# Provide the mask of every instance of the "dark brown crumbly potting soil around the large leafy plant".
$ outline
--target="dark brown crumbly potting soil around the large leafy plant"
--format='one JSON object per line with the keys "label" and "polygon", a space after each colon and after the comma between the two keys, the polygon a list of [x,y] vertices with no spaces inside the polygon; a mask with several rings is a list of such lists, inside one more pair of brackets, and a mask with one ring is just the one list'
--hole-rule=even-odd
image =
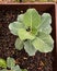
{"label": "dark brown crumbly potting soil around the large leafy plant", "polygon": [[14,43],[16,36],[12,35],[9,31],[9,23],[16,20],[18,11],[0,11],[0,58],[7,59],[12,57],[21,68],[29,71],[53,71],[53,56],[52,52],[41,54],[36,52],[35,56],[30,57],[24,49],[16,50]]}

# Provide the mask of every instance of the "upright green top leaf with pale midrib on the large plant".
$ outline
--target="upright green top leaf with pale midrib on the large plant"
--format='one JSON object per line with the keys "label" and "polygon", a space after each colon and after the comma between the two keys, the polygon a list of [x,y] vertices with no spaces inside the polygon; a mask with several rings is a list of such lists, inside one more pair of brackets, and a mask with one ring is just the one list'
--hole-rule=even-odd
{"label": "upright green top leaf with pale midrib on the large plant", "polygon": [[41,15],[35,9],[29,9],[23,16],[23,23],[25,24],[25,27],[37,28],[41,24]]}

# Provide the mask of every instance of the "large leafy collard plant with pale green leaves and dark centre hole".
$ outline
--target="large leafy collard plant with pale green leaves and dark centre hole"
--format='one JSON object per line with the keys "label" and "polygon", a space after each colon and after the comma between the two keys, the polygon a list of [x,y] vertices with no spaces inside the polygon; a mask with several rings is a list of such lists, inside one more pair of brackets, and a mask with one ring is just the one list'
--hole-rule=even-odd
{"label": "large leafy collard plant with pale green leaves and dark centre hole", "polygon": [[37,50],[52,51],[54,40],[50,36],[50,14],[41,15],[35,9],[27,9],[25,13],[18,15],[16,21],[9,25],[10,32],[18,36],[15,48],[21,50],[24,47],[30,56],[34,56]]}

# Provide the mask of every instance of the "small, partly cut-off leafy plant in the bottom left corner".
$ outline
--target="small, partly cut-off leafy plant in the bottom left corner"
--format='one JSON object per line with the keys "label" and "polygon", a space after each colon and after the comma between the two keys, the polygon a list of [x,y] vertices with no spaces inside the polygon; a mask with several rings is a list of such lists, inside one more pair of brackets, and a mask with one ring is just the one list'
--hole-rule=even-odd
{"label": "small, partly cut-off leafy plant in the bottom left corner", "polygon": [[10,57],[7,58],[7,61],[4,59],[0,59],[0,67],[3,68],[0,71],[27,71],[26,69],[21,69],[19,64],[15,64],[15,60]]}

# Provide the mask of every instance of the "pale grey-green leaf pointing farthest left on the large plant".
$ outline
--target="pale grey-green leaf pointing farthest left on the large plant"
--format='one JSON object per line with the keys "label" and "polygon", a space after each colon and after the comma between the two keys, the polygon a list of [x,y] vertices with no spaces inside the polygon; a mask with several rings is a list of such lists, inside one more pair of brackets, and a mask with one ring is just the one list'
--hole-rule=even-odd
{"label": "pale grey-green leaf pointing farthest left on the large plant", "polygon": [[13,22],[13,23],[10,23],[9,25],[9,29],[11,31],[13,35],[18,35],[19,28],[22,28],[22,27],[24,27],[24,25],[20,22]]}

